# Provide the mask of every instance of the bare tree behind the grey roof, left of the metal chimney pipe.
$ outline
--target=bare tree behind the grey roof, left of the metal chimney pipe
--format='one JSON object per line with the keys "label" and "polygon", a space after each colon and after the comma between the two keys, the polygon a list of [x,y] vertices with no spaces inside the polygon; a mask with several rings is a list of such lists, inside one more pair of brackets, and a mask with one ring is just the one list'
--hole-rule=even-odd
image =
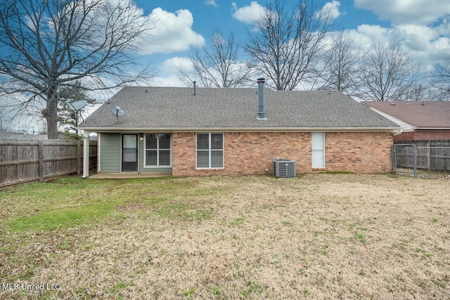
{"label": "bare tree behind the grey roof, left of the metal chimney pipe", "polygon": [[245,86],[254,72],[250,60],[240,62],[240,45],[233,32],[224,37],[219,30],[210,34],[207,44],[191,50],[192,69],[178,67],[179,78],[191,86],[229,88]]}

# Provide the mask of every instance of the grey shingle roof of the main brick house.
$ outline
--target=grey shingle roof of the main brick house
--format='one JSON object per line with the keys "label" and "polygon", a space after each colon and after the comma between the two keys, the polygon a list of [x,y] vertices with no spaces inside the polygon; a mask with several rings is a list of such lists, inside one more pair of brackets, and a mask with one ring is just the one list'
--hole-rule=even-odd
{"label": "grey shingle roof of the main brick house", "polygon": [[[79,129],[367,129],[394,130],[397,124],[338,91],[264,89],[267,119],[258,120],[256,88],[217,89],[126,86],[103,104]],[[111,112],[127,110],[120,123]]]}

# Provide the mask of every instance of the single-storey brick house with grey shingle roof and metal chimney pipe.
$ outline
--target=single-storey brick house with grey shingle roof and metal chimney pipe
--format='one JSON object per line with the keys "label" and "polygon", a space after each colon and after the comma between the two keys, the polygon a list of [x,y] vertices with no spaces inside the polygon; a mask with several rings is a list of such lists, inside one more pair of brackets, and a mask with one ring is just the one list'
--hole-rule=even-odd
{"label": "single-storey brick house with grey shingle roof and metal chimney pipe", "polygon": [[246,89],[126,86],[78,128],[98,133],[98,172],[174,176],[271,174],[276,157],[299,174],[387,173],[399,130],[338,91],[272,91],[264,79]]}

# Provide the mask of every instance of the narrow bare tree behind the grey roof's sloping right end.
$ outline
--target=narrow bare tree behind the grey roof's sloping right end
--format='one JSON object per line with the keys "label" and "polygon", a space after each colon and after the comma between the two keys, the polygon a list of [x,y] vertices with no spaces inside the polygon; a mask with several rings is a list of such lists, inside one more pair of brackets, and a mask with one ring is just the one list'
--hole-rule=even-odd
{"label": "narrow bare tree behind the grey roof's sloping right end", "polygon": [[320,84],[319,89],[335,89],[353,95],[363,56],[364,51],[355,46],[354,37],[344,30],[333,34],[316,80]]}

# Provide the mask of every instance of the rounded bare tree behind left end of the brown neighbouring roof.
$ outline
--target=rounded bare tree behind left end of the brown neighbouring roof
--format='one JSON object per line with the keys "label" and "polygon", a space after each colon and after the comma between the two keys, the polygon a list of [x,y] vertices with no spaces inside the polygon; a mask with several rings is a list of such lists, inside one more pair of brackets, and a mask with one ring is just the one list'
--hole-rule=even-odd
{"label": "rounded bare tree behind left end of the brown neighbouring roof", "polygon": [[358,96],[368,101],[408,100],[419,72],[420,65],[399,44],[373,41],[362,61]]}

